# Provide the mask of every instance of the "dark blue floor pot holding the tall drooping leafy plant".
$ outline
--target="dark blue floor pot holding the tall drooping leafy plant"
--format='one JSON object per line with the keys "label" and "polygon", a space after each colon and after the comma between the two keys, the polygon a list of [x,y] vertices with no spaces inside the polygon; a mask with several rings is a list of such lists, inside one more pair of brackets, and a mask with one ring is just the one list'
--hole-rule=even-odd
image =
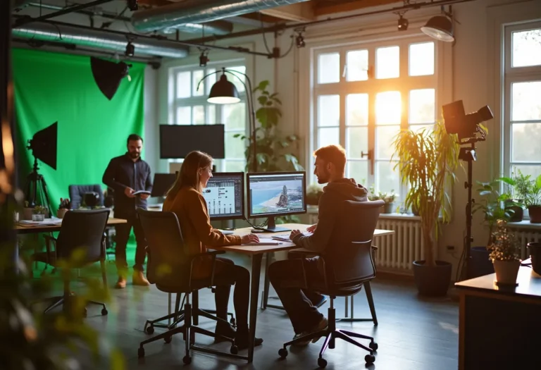
{"label": "dark blue floor pot holding the tall drooping leafy plant", "polygon": [[442,297],[447,295],[451,283],[452,264],[436,261],[435,266],[426,266],[425,261],[413,261],[413,277],[420,295]]}

